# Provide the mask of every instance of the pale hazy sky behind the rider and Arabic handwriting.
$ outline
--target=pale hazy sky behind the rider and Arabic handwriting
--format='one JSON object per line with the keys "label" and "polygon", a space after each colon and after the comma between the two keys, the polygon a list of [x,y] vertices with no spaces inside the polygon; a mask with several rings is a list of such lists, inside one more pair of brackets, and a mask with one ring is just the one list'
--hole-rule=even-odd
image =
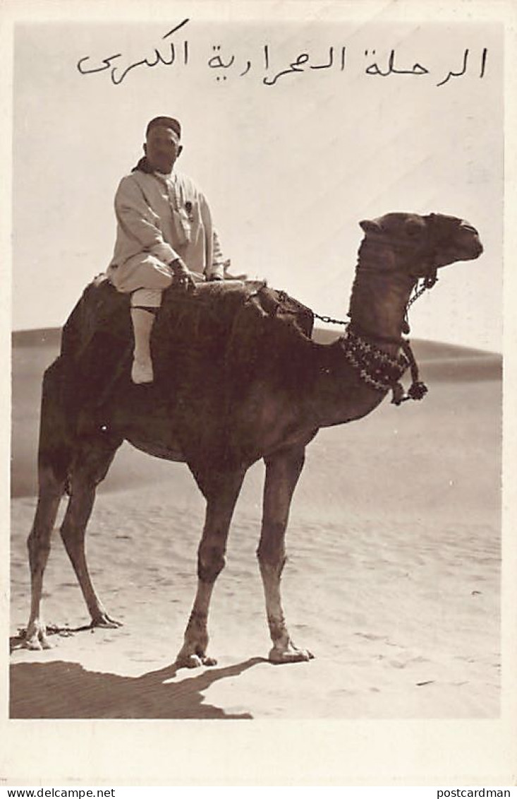
{"label": "pale hazy sky behind the rider and Arabic handwriting", "polygon": [[[170,114],[184,128],[178,169],[207,194],[235,271],[343,317],[361,219],[463,217],[485,252],[441,272],[412,336],[500,350],[503,30],[193,13],[167,36],[187,18],[170,8],[144,23],[16,27],[13,328],[63,324],[105,270],[116,186],[148,120]],[[150,66],[172,44],[175,62]]]}

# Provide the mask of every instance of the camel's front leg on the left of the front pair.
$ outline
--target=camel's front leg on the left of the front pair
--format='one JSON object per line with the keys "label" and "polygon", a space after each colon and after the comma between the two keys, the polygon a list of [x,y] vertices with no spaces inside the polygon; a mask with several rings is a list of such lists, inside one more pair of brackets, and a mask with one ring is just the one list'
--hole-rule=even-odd
{"label": "camel's front leg on the left of the front pair", "polygon": [[215,579],[224,568],[231,516],[243,478],[244,471],[235,471],[206,481],[210,488],[203,491],[207,497],[207,512],[198,550],[198,587],[184,645],[176,658],[178,666],[215,666],[215,659],[207,657],[208,610]]}

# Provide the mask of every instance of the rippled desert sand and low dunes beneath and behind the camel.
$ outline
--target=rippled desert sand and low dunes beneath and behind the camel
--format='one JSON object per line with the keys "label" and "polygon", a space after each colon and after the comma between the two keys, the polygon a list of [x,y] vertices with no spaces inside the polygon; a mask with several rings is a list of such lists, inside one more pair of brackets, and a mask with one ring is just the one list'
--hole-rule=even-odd
{"label": "rippled desert sand and low dunes beneath and behind the camel", "polygon": [[291,635],[314,653],[310,662],[266,660],[255,558],[263,467],[251,469],[211,608],[218,665],[189,671],[174,661],[195,593],[203,499],[186,466],[128,444],[99,489],[88,535],[93,580],[124,626],[87,629],[56,528],[44,614],[61,632],[52,650],[22,648],[41,374],[58,338],[14,334],[11,718],[499,716],[499,356],[416,341],[422,402],[385,400],[308,447],[282,582]]}

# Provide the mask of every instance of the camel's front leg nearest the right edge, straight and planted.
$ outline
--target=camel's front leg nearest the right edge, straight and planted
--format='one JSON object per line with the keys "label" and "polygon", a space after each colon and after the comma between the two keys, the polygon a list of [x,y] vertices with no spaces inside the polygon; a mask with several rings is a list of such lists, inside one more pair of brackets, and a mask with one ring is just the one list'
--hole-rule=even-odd
{"label": "camel's front leg nearest the right edge, straight and planted", "polygon": [[262,513],[262,535],[258,544],[258,563],[266,597],[267,622],[273,648],[269,658],[274,663],[310,660],[307,650],[298,649],[290,639],[282,610],[280,578],[286,562],[285,535],[290,502],[305,459],[305,447],[283,450],[264,459],[266,483]]}

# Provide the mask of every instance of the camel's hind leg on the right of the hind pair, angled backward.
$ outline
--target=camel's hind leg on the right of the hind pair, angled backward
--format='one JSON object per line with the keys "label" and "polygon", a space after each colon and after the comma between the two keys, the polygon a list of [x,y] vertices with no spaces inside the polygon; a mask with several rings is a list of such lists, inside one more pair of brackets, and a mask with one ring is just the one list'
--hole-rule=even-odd
{"label": "camel's hind leg on the right of the hind pair, angled backward", "polygon": [[70,474],[70,499],[61,525],[61,539],[77,575],[92,626],[118,627],[97,596],[85,555],[86,525],[92,513],[97,484],[103,480],[121,439],[106,432],[81,441]]}

